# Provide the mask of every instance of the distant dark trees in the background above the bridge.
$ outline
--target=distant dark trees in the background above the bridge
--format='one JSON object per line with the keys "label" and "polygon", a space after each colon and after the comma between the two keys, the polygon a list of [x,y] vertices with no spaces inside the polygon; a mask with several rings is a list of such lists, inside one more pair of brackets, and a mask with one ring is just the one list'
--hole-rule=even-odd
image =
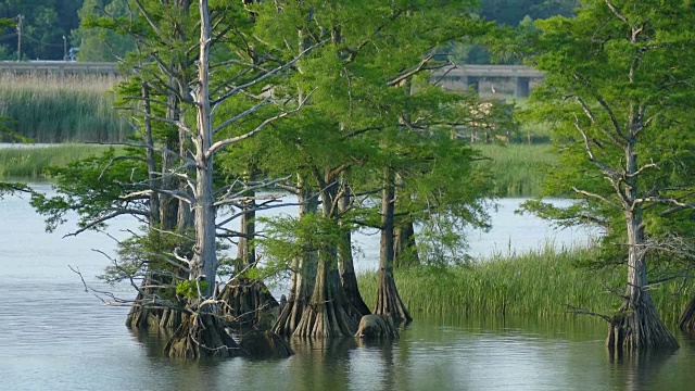
{"label": "distant dark trees in the background above the bridge", "polygon": [[[134,49],[123,35],[94,28],[89,21],[101,16],[127,17],[132,8],[128,0],[0,0],[0,18],[11,23],[0,28],[0,60],[16,60],[22,15],[24,60],[62,60],[65,49],[79,48],[80,61],[116,61]],[[482,0],[471,10],[488,21],[517,26],[520,23],[553,15],[569,16],[577,0]],[[81,26],[80,26],[81,23]],[[63,40],[65,37],[65,40]],[[459,62],[489,63],[490,54],[477,45],[452,49]]]}

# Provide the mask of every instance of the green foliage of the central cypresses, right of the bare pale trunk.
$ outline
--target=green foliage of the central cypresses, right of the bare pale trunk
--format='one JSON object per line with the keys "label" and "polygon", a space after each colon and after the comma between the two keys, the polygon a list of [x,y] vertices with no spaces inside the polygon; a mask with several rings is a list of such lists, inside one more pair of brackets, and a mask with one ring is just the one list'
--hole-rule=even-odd
{"label": "green foliage of the central cypresses, right of the bare pale trunk", "polygon": [[[383,167],[390,166],[400,178],[396,213],[422,222],[422,232],[431,234],[420,241],[430,243],[427,249],[443,243],[451,253],[463,225],[484,225],[486,218],[481,200],[490,187],[475,164],[478,152],[451,141],[452,127],[471,117],[478,100],[431,86],[418,66],[441,65],[429,58],[437,47],[490,29],[469,17],[469,10],[470,3],[454,1],[261,2],[255,34],[270,46],[287,46],[282,55],[324,42],[299,61],[301,72],[274,89],[288,100],[311,91],[311,99],[291,122],[220,161],[236,175],[249,166],[270,177],[299,175],[305,186],[324,191],[323,202],[331,200],[326,189],[340,176],[354,193],[378,193]],[[298,28],[302,38],[288,39],[285,31]],[[355,200],[351,211],[331,218],[379,227],[374,200]]]}

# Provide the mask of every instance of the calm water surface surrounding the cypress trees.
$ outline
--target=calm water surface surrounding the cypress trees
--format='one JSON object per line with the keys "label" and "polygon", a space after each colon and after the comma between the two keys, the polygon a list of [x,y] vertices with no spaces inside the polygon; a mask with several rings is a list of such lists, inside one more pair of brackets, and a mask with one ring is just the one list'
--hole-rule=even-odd
{"label": "calm water surface surrounding the cypress trees", "polygon": [[[48,186],[40,187],[50,191]],[[471,253],[523,252],[546,243],[581,244],[586,232],[555,231],[514,214],[501,200],[491,232],[469,232]],[[558,201],[567,202],[567,201]],[[695,340],[678,335],[673,354],[614,358],[606,328],[591,318],[534,321],[425,318],[388,344],[352,339],[292,341],[280,361],[187,363],[163,357],[162,342],[132,335],[125,307],[104,306],[84,290],[109,260],[113,239],[97,232],[45,234],[25,199],[0,200],[0,390],[692,390]],[[134,228],[116,222],[113,236]],[[368,232],[367,232],[368,234]],[[376,235],[362,235],[358,267],[376,267]],[[132,292],[118,292],[123,297]]]}

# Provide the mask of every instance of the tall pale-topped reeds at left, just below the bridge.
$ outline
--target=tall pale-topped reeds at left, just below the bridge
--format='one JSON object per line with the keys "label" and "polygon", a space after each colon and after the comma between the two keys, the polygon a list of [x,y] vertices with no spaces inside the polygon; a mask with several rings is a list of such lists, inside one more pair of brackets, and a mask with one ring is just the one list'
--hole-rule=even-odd
{"label": "tall pale-topped reeds at left, just below the bridge", "polygon": [[123,140],[128,126],[109,92],[115,83],[98,75],[0,75],[0,116],[36,142]]}

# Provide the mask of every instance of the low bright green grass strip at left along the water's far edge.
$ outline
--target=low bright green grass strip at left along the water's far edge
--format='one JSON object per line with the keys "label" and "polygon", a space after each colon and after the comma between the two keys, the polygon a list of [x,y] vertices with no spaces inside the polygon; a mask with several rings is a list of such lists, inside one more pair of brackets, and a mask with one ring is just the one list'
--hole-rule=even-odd
{"label": "low bright green grass strip at left along the water's far edge", "polygon": [[66,166],[75,160],[98,154],[104,148],[96,144],[0,148],[0,179],[46,179],[46,167]]}

